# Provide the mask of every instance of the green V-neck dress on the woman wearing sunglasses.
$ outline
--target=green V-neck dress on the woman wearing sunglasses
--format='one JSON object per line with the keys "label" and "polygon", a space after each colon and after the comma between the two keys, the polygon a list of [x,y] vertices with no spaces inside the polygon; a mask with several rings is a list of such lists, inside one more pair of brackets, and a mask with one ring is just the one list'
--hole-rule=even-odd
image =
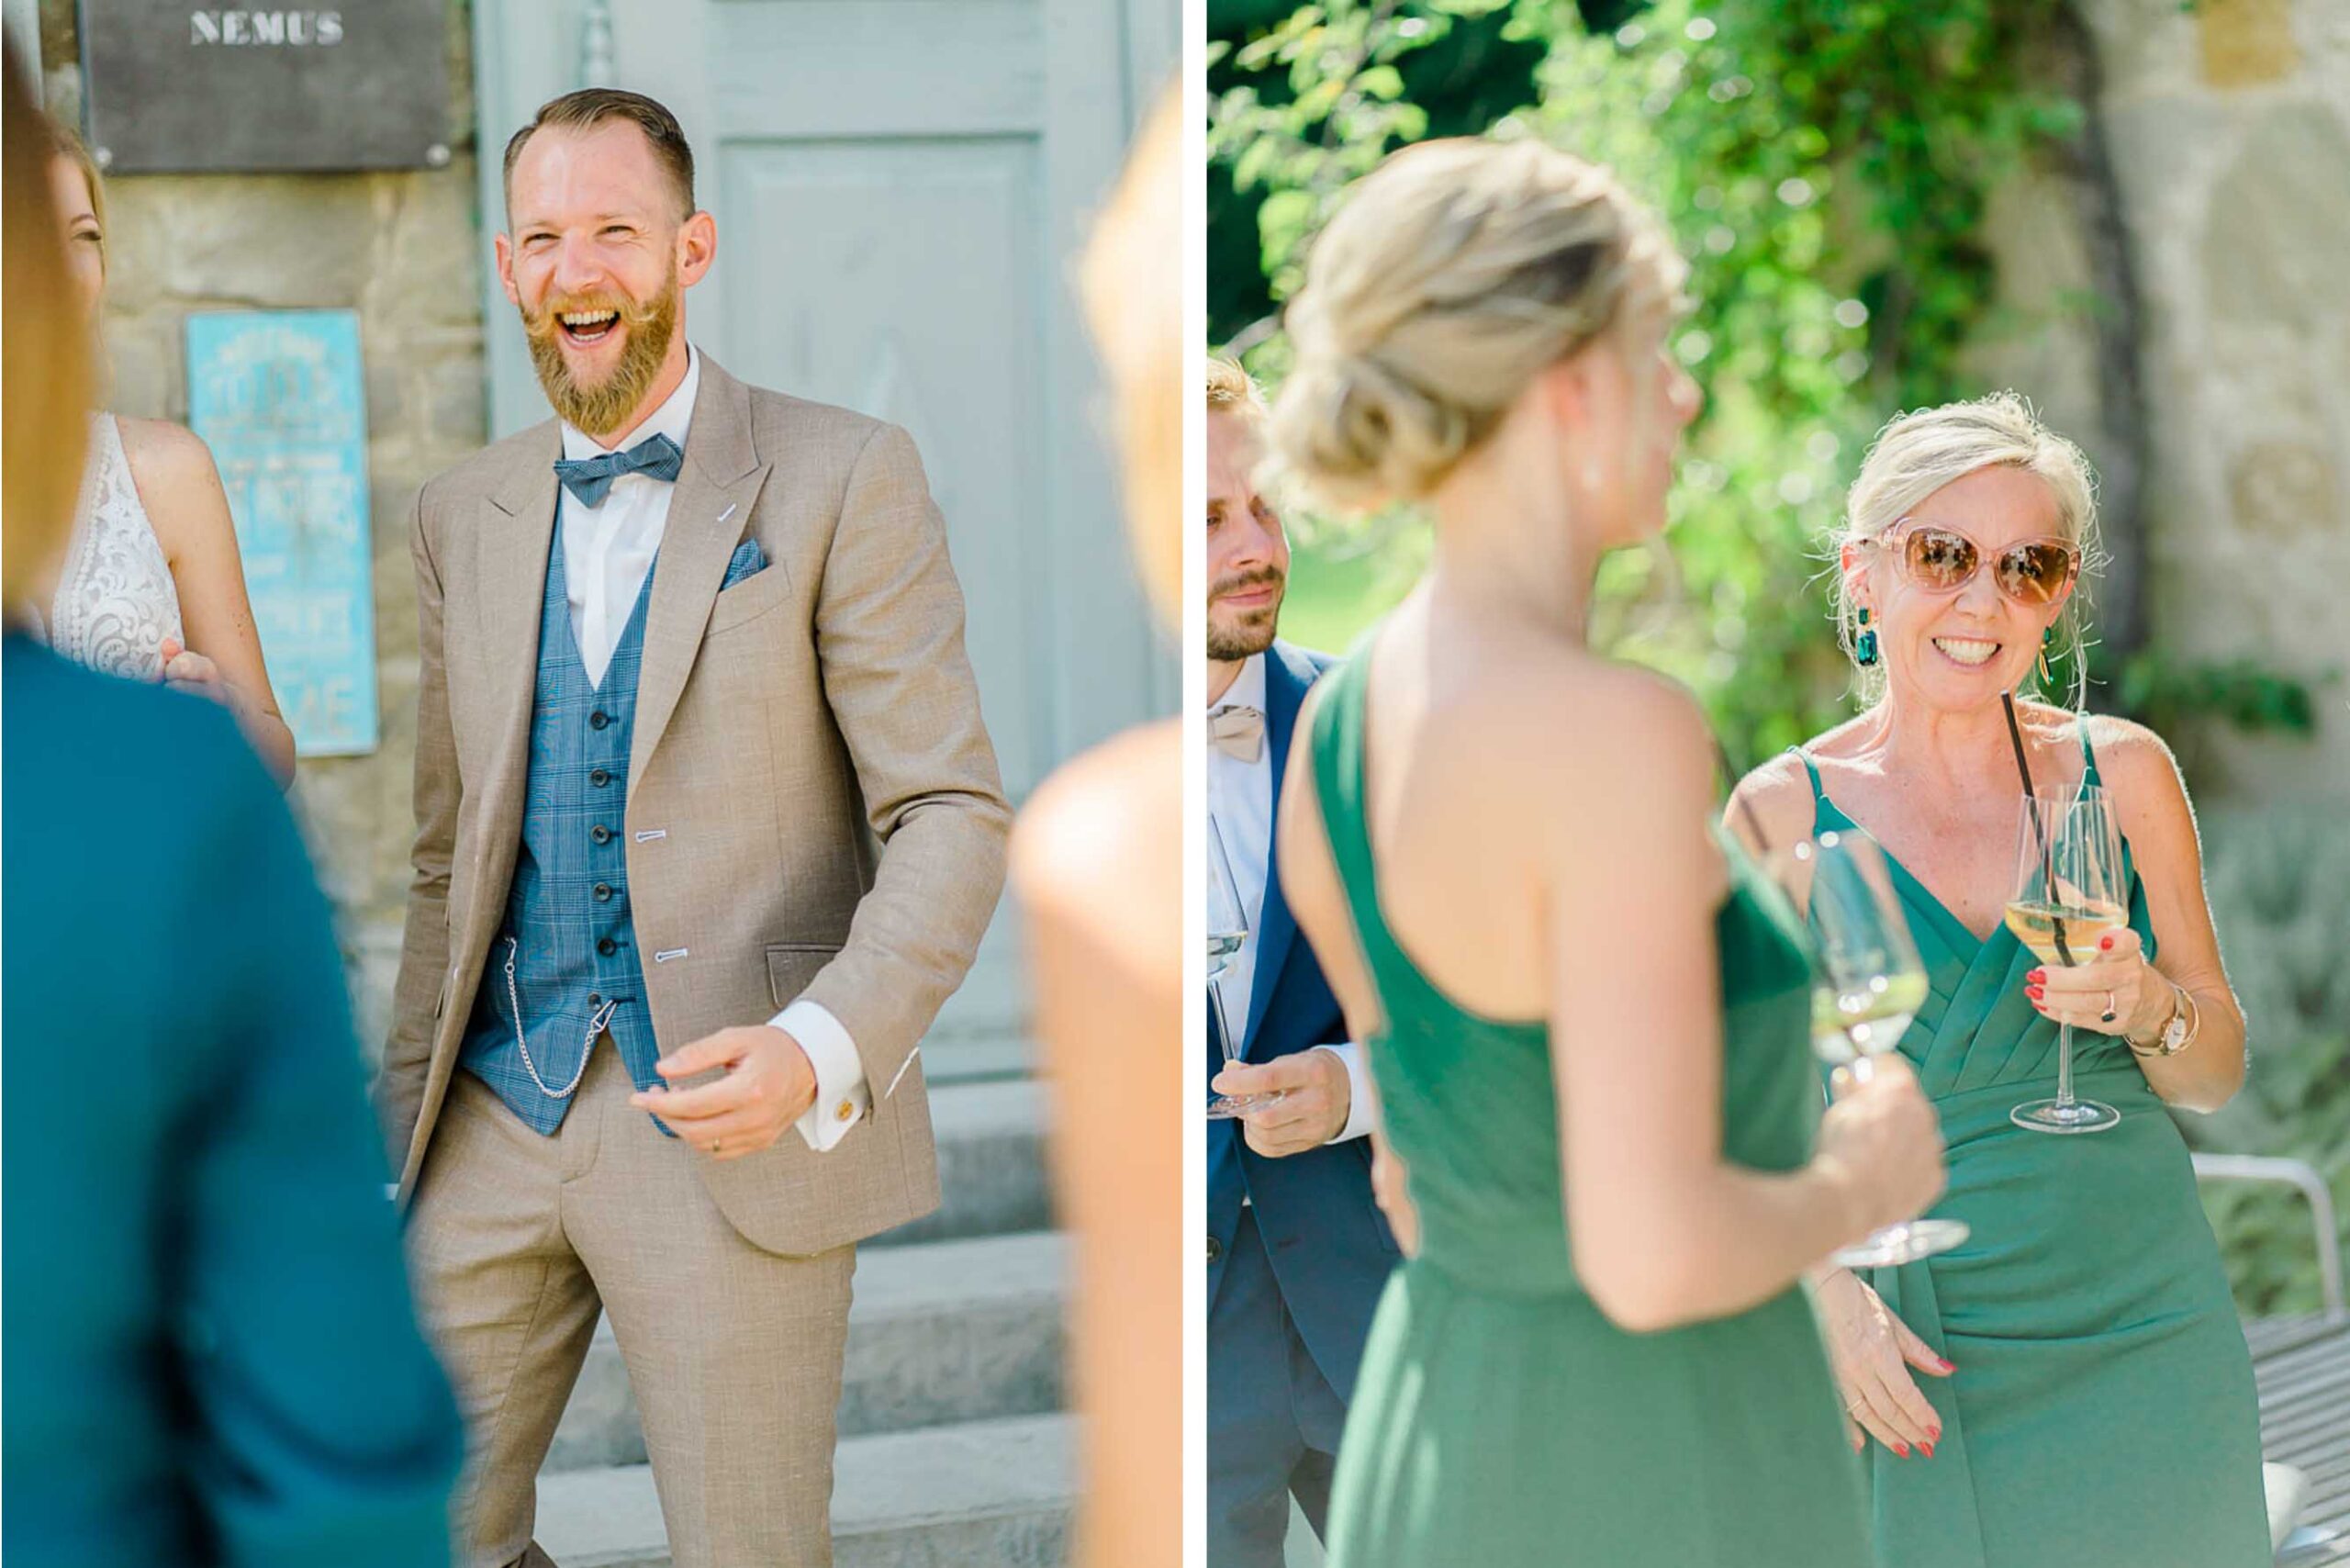
{"label": "green V-neck dress on the woman wearing sunglasses", "polygon": [[[1802,755],[1802,752],[1798,752]],[[2082,783],[2099,783],[2082,733]],[[1814,832],[1868,832],[1810,755]],[[1941,1112],[1950,1185],[1936,1215],[1972,1237],[1871,1269],[1885,1305],[1955,1361],[1918,1375],[1941,1413],[1934,1458],[1868,1446],[1885,1568],[2263,1568],[2268,1507],[2251,1354],[2195,1171],[2129,1046],[2073,1030],[2073,1086],[2122,1112],[2103,1133],[2007,1119],[2054,1093],[2056,1025],[2023,997],[2037,964],[2005,926],[1976,940],[1899,860],[1885,865],[1932,997],[1901,1056]],[[2129,867],[2129,926],[2155,954]]]}

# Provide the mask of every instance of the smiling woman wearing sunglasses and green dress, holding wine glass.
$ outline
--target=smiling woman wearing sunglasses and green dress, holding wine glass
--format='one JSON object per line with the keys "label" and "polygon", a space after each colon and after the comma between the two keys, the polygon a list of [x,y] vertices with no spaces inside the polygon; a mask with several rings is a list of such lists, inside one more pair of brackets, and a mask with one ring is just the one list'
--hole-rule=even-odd
{"label": "smiling woman wearing sunglasses and green dress, holding wine glass", "polygon": [[[2084,637],[2092,484],[2012,393],[1889,423],[1838,552],[1868,708],[1730,811],[1774,844],[1873,837],[1932,985],[1901,1056],[1948,1140],[1934,1213],[1972,1239],[1817,1281],[1878,1561],[1899,1568],[2270,1561],[2251,1359],[2164,1114],[2244,1081],[2195,816],[2157,736],[2077,712],[2077,675],[2063,703],[2047,691],[2049,656]],[[2002,924],[2021,797],[2002,693],[2035,788],[2101,785],[2124,842],[2129,919],[2073,969]],[[2059,1023],[2080,1093],[2122,1112],[2094,1138],[2009,1121],[2052,1086]]]}

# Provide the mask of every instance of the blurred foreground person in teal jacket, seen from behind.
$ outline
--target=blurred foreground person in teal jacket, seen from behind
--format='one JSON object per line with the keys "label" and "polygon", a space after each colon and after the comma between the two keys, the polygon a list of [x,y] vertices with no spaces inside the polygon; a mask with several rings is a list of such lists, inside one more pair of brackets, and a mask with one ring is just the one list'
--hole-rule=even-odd
{"label": "blurred foreground person in teal jacket, seen from behind", "polygon": [[[63,543],[87,376],[5,68],[5,597]],[[449,1561],[327,903],[235,719],[0,637],[0,1269],[14,1568]]]}

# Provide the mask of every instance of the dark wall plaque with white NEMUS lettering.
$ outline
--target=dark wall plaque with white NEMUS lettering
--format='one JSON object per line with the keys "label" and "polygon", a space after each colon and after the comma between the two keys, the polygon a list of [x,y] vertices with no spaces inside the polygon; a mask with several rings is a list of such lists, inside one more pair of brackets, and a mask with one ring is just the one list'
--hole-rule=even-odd
{"label": "dark wall plaque with white NEMUS lettering", "polygon": [[444,0],[80,0],[89,148],[118,174],[449,162]]}

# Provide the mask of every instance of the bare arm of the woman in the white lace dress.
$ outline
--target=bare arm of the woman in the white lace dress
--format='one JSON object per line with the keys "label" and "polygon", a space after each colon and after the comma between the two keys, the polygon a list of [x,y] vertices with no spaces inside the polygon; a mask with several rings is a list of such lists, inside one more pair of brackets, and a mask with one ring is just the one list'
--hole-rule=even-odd
{"label": "bare arm of the woman in the white lace dress", "polygon": [[291,788],[294,731],[277,715],[270,672],[261,661],[237,529],[228,515],[228,491],[221,489],[212,449],[193,430],[157,418],[120,423],[132,482],[172,564],[188,651],[197,656],[174,661],[169,677],[212,686],[209,696],[237,715],[237,726],[277,788]]}

